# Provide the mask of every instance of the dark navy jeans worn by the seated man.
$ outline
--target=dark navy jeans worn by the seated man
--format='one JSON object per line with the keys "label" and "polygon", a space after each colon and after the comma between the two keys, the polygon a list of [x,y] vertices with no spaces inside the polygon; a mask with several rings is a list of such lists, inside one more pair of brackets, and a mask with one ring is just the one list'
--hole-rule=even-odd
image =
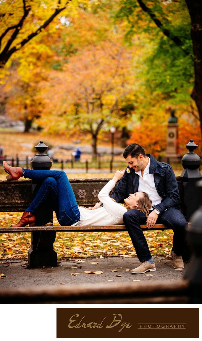
{"label": "dark navy jeans worn by the seated man", "polygon": [[[123,215],[125,227],[132,239],[133,246],[140,262],[148,261],[151,258],[146,238],[140,227],[140,225],[146,224],[146,220],[145,214],[136,209],[130,209]],[[170,229],[173,229],[173,249],[176,255],[181,256],[183,254],[185,227],[187,225],[181,211],[177,208],[167,209],[160,214],[156,224],[164,224],[167,227],[170,227]]]}

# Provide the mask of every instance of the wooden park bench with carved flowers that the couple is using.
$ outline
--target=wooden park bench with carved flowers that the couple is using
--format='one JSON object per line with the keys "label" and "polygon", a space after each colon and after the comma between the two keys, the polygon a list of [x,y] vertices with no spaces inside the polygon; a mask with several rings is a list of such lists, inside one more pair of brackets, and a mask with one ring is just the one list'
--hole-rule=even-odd
{"label": "wooden park bench with carved flowers that the couple is using", "polygon": [[[98,193],[109,179],[72,179],[70,180],[78,205],[84,207],[94,206],[98,202]],[[180,206],[183,212],[183,183],[181,177],[177,177],[180,192]],[[23,212],[32,201],[33,187],[32,180],[6,181],[0,180],[0,211],[1,212]],[[113,190],[110,192],[112,195]],[[47,209],[47,208],[46,208]],[[44,217],[44,213],[43,213]],[[51,217],[46,217],[46,222],[51,222]],[[37,224],[37,225],[36,225]],[[53,226],[46,223],[38,223],[36,226],[25,227],[0,227],[0,233],[32,232],[31,249],[28,250],[28,263],[30,267],[37,266],[57,266],[57,254],[53,250],[55,233],[63,232],[92,232],[92,231],[126,231],[124,225],[111,226]],[[143,231],[169,229],[165,225],[156,224],[148,229],[146,225],[141,225]]]}

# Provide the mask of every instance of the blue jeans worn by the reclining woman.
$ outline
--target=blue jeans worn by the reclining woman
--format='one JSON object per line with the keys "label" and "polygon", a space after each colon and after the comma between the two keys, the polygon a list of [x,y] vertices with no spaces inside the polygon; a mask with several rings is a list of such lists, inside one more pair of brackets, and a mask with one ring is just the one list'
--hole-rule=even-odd
{"label": "blue jeans worn by the reclining woman", "polygon": [[31,205],[26,209],[35,213],[48,198],[51,198],[58,223],[62,226],[79,221],[80,212],[67,175],[62,170],[24,169],[24,178],[43,181]]}

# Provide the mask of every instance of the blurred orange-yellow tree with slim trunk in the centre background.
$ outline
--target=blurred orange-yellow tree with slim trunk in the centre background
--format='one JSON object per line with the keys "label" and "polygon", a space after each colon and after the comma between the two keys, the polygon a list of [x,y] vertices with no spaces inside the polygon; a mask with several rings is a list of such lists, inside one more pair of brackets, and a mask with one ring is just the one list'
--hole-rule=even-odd
{"label": "blurred orange-yellow tree with slim trunk in the centre background", "polygon": [[44,112],[39,124],[54,133],[90,133],[97,154],[101,129],[127,123],[121,107],[134,100],[131,62],[130,50],[117,41],[83,48],[69,58],[63,72],[51,73],[55,86],[49,90],[49,115]]}

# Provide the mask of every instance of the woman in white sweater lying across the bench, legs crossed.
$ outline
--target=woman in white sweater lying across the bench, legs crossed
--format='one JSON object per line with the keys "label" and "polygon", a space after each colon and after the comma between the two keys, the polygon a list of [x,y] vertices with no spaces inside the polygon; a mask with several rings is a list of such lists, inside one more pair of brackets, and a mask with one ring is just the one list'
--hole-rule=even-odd
{"label": "woman in white sweater lying across the bench, legs crossed", "polygon": [[[53,210],[61,226],[70,225],[120,225],[123,224],[123,214],[127,208],[114,202],[109,193],[125,173],[125,170],[117,170],[112,180],[102,188],[98,194],[103,206],[99,209],[88,210],[77,205],[75,195],[69,183],[67,175],[62,170],[33,170],[21,167],[11,167],[3,161],[3,167],[7,180],[17,180],[20,177],[43,180],[36,197],[31,205],[22,214],[20,221],[11,227],[34,225],[36,218],[34,214],[42,204],[51,197]],[[136,192],[124,199],[129,208],[136,208],[148,214],[151,208],[151,200],[147,193]],[[96,205],[99,205],[98,203]]]}

